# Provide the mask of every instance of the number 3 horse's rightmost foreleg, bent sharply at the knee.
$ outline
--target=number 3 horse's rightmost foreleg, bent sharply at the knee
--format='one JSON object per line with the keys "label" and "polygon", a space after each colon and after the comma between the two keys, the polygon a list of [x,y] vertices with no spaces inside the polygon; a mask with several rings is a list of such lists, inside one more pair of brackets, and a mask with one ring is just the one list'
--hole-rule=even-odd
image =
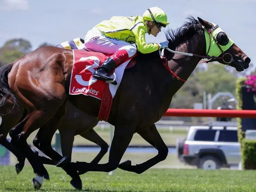
{"label": "number 3 horse's rightmost foreleg, bent sharply at the knee", "polygon": [[162,140],[159,132],[156,129],[156,125],[153,124],[149,128],[144,129],[140,132],[138,132],[140,136],[148,141],[149,144],[151,144],[153,147],[155,147],[158,150],[158,154],[154,156],[153,158],[149,159],[148,161],[132,165],[130,160],[126,160],[123,163],[121,163],[118,168],[123,169],[125,171],[135,172],[135,173],[142,173],[149,169],[150,167],[154,166],[155,164],[159,163],[160,161],[164,161],[168,155],[168,148],[165,145],[164,141]]}

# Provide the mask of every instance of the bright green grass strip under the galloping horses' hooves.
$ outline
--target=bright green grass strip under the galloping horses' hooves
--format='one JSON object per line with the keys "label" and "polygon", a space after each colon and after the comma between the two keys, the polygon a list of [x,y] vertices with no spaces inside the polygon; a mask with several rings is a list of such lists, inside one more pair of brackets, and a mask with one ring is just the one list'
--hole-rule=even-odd
{"label": "bright green grass strip under the galloping horses' hooves", "polygon": [[[50,180],[39,191],[76,191],[60,168],[46,166]],[[0,167],[0,191],[34,191],[30,166],[16,175],[13,167]],[[149,169],[138,175],[117,169],[113,175],[88,172],[81,176],[86,192],[252,192],[256,191],[255,171]]]}

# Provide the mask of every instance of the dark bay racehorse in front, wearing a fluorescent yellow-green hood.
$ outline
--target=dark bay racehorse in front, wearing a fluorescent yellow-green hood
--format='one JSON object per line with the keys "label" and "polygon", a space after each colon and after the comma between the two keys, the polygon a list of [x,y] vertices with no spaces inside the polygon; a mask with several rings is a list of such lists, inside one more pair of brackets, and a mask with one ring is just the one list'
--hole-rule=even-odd
{"label": "dark bay racehorse in front, wearing a fluorescent yellow-green hood", "polygon": [[[212,35],[218,31],[216,36]],[[177,31],[169,29],[166,35],[171,50],[190,55],[165,51],[167,60],[164,65],[158,51],[139,54],[137,64],[125,70],[108,119],[108,123],[115,126],[115,132],[108,163],[105,164],[68,163],[51,147],[52,136],[66,113],[67,101],[95,117],[100,108],[100,100],[68,94],[72,51],[56,47],[38,48],[1,69],[0,90],[12,98],[14,107],[20,102],[29,111],[10,130],[10,136],[38,176],[49,179],[47,170],[37,161],[26,139],[39,127],[37,147],[52,160],[60,161],[58,166],[69,175],[75,174],[74,170],[110,172],[117,167],[136,173],[146,171],[168,154],[154,123],[169,108],[173,95],[191,75],[202,56],[207,58],[209,55],[212,60],[228,64],[237,71],[249,67],[250,58],[236,44],[230,43],[232,40],[222,29],[208,21],[191,17]],[[130,160],[119,164],[135,132],[154,146],[158,154],[141,164],[132,165]]]}

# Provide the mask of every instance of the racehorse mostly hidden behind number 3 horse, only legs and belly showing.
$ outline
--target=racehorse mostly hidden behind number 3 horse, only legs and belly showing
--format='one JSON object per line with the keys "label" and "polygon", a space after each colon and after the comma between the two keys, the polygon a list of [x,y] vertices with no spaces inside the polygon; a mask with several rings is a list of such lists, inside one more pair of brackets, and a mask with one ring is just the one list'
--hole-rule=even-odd
{"label": "racehorse mostly hidden behind number 3 horse, only legs and belly showing", "polygon": [[[12,102],[11,100],[7,100],[7,103],[0,108],[0,114],[2,114],[2,123],[0,125],[0,144],[17,157],[18,163],[15,165],[15,168],[17,174],[19,174],[25,164],[25,157],[15,146],[13,146],[12,143],[8,142],[6,137],[10,129],[24,119],[28,111],[22,107],[19,107],[19,109],[15,110],[13,113],[8,113],[10,107],[12,107]],[[62,155],[69,157],[69,160],[71,161],[74,137],[76,135],[80,135],[100,146],[99,154],[92,160],[92,163],[98,163],[108,152],[108,144],[93,130],[98,122],[99,119],[80,111],[70,102],[68,102],[67,113],[61,121],[59,127]],[[73,127],[73,129],[70,129],[70,127]],[[36,154],[38,154],[38,152]],[[43,156],[38,157],[43,164],[56,164],[56,162],[49,158]],[[83,173],[84,172],[80,172],[80,174]],[[34,186],[36,189],[41,187],[40,184],[35,185],[35,183]]]}

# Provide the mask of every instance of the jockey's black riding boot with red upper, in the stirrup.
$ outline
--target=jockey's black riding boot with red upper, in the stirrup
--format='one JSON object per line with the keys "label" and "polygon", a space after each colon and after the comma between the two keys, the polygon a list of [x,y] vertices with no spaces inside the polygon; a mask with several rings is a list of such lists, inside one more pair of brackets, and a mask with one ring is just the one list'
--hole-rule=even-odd
{"label": "jockey's black riding boot with red upper, in the stirrup", "polygon": [[120,63],[128,58],[129,56],[126,50],[118,50],[115,54],[111,55],[108,59],[106,59],[99,68],[95,70],[93,77],[95,79],[106,81],[106,83],[115,82],[115,79],[111,75],[109,75],[110,71],[116,68]]}

